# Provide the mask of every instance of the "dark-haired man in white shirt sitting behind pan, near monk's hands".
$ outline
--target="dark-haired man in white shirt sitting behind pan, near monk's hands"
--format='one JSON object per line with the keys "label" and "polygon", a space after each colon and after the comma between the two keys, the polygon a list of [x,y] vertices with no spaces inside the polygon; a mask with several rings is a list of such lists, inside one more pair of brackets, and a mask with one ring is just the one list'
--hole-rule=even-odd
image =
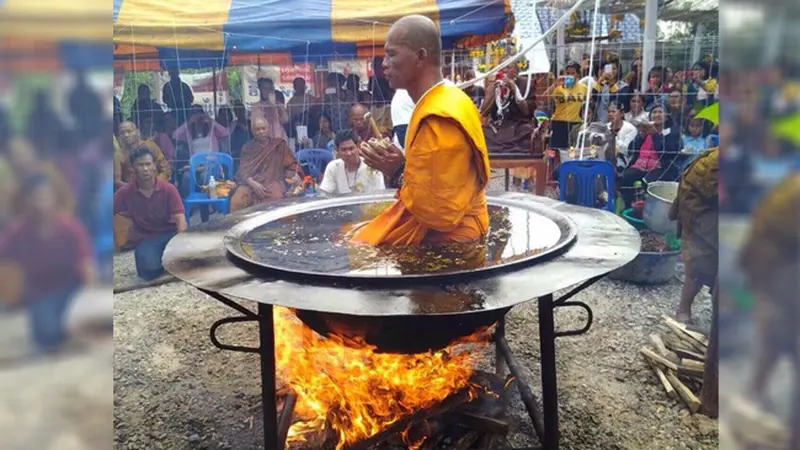
{"label": "dark-haired man in white shirt sitting behind pan, near monk's hands", "polygon": [[319,185],[323,195],[368,194],[385,189],[383,174],[361,161],[357,142],[358,136],[353,130],[336,133],[334,143],[338,158],[325,168]]}

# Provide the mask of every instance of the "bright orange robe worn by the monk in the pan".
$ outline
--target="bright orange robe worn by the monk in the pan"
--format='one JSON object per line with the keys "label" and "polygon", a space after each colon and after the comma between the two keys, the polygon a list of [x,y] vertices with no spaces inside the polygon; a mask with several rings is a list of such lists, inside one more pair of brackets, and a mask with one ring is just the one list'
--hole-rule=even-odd
{"label": "bright orange robe worn by the monk in the pan", "polygon": [[464,242],[489,231],[489,154],[478,110],[464,92],[439,84],[417,102],[405,142],[397,201],[356,232],[370,245]]}

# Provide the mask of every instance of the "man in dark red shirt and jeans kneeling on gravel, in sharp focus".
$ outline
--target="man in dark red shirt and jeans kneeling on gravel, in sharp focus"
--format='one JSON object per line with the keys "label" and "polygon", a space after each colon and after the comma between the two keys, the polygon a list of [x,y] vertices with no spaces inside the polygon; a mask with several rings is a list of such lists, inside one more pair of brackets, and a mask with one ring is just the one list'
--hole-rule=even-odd
{"label": "man in dark red shirt and jeans kneeling on gravel, in sharp focus", "polygon": [[164,273],[161,256],[176,233],[186,231],[178,189],[158,178],[155,156],[147,147],[131,154],[134,182],[114,194],[114,214],[128,217],[133,228],[123,248],[134,248],[136,273],[150,281]]}

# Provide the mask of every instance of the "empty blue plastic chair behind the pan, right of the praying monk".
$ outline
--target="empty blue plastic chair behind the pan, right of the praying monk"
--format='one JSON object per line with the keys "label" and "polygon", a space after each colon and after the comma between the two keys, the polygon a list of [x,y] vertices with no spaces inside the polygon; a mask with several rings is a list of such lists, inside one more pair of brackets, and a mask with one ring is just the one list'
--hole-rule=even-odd
{"label": "empty blue plastic chair behind the pan, right of the praying monk", "polygon": [[577,204],[593,208],[595,200],[600,194],[594,191],[595,180],[602,176],[606,180],[606,192],[608,192],[608,202],[604,209],[614,212],[616,197],[614,166],[608,161],[586,160],[586,161],[565,161],[558,169],[558,190],[562,202],[566,202],[567,180],[572,175],[575,180],[577,190]]}

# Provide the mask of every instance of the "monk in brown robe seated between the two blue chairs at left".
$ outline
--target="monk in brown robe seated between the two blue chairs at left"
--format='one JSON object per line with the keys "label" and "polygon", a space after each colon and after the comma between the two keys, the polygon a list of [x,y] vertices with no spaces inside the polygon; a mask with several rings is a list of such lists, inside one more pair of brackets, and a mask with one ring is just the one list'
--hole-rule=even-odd
{"label": "monk in brown robe seated between the two blue chairs at left", "polygon": [[253,140],[242,147],[231,212],[283,198],[302,173],[286,140],[270,134],[269,122],[254,119],[251,131]]}

